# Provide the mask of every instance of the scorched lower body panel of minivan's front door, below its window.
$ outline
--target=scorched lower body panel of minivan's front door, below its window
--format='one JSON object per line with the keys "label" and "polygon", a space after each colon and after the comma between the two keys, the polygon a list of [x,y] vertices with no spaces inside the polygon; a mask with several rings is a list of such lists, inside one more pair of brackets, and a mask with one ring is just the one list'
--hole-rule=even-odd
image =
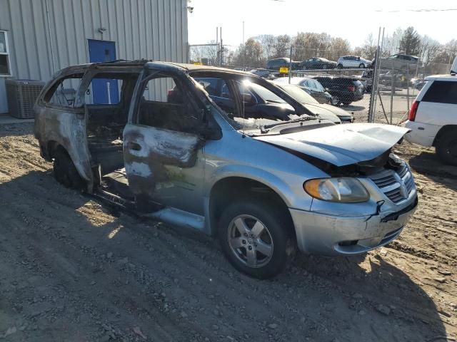
{"label": "scorched lower body panel of minivan's front door, below its window", "polygon": [[201,145],[199,135],[126,125],[124,164],[131,192],[139,199],[201,213]]}

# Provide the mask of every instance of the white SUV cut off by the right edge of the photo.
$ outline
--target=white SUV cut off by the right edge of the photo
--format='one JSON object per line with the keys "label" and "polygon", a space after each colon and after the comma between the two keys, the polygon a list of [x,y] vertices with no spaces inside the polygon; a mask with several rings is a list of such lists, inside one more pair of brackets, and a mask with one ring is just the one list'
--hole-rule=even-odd
{"label": "white SUV cut off by the right edge of the photo", "polygon": [[457,165],[457,58],[451,75],[429,76],[403,124],[411,132],[405,138],[423,146],[435,146],[446,164]]}

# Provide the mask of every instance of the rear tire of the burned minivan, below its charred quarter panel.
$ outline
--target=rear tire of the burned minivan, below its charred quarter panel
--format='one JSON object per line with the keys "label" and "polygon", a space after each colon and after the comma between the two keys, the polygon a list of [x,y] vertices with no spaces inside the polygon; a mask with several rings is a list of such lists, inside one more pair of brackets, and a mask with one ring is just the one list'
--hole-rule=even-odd
{"label": "rear tire of the burned minivan, below its charred quarter panel", "polygon": [[54,153],[54,177],[57,182],[76,190],[84,190],[84,180],[76,170],[70,156],[62,147],[58,147]]}

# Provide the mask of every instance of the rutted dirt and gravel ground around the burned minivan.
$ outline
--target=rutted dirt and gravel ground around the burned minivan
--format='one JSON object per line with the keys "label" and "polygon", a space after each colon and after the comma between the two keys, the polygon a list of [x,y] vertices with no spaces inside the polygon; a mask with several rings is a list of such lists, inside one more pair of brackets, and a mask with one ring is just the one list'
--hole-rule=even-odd
{"label": "rutted dirt and gravel ground around the burned minivan", "polygon": [[0,340],[456,341],[457,167],[431,149],[396,147],[419,192],[398,240],[258,281],[211,237],[59,185],[32,129],[0,125]]}

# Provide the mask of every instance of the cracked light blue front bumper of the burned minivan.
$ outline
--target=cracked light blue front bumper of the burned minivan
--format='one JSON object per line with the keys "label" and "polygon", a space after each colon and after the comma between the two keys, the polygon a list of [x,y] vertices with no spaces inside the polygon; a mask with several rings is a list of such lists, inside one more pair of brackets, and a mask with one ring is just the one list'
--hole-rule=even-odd
{"label": "cracked light blue front bumper of the burned minivan", "polygon": [[361,254],[388,244],[405,227],[417,207],[417,197],[399,212],[342,217],[289,209],[298,249],[322,255]]}

